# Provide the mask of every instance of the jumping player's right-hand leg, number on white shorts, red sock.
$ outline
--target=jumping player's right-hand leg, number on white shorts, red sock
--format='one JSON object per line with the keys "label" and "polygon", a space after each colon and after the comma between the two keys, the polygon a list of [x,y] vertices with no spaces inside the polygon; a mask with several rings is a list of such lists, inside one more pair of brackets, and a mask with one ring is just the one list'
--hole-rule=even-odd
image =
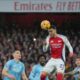
{"label": "jumping player's right-hand leg, number on white shorts, red sock", "polygon": [[57,67],[57,75],[56,75],[57,80],[63,80],[64,79],[65,64],[62,59],[57,60],[56,67]]}

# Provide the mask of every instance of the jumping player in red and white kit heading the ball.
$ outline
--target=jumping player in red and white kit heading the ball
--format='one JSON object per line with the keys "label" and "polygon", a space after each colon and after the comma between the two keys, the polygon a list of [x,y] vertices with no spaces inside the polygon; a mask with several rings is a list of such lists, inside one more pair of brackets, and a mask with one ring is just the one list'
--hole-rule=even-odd
{"label": "jumping player in red and white kit heading the ball", "polygon": [[49,36],[43,42],[43,51],[47,51],[48,47],[50,47],[51,59],[42,71],[41,80],[45,80],[46,75],[50,74],[54,67],[57,69],[57,80],[63,80],[65,70],[65,45],[69,49],[69,57],[73,56],[73,48],[66,36],[57,33],[55,24],[50,26],[48,33]]}

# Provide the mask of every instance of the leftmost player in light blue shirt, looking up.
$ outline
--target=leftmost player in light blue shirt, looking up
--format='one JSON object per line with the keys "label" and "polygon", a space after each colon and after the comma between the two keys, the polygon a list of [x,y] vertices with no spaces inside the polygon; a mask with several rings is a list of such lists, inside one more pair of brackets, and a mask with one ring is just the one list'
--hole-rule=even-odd
{"label": "leftmost player in light blue shirt, looking up", "polygon": [[13,53],[12,60],[9,60],[2,70],[3,80],[28,80],[25,74],[25,66],[20,61],[21,53],[19,50]]}

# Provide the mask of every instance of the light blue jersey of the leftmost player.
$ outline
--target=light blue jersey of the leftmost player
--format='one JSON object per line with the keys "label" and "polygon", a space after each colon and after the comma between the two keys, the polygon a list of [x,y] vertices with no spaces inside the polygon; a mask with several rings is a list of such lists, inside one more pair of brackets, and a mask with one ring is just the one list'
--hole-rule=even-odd
{"label": "light blue jersey of the leftmost player", "polygon": [[[16,80],[21,80],[22,73],[25,71],[24,64],[20,61],[17,62],[14,59],[9,60],[4,65],[4,69],[6,69],[9,74],[13,75],[16,78]],[[11,79],[4,76],[3,80],[11,80]]]}

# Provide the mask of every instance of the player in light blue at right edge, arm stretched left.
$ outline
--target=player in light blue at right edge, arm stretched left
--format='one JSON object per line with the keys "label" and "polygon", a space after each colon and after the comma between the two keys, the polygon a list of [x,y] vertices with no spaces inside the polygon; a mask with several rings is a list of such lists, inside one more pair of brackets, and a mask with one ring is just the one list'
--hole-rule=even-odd
{"label": "player in light blue at right edge, arm stretched left", "polygon": [[77,56],[75,61],[76,67],[73,71],[65,73],[65,75],[74,75],[75,80],[80,80],[80,56]]}

